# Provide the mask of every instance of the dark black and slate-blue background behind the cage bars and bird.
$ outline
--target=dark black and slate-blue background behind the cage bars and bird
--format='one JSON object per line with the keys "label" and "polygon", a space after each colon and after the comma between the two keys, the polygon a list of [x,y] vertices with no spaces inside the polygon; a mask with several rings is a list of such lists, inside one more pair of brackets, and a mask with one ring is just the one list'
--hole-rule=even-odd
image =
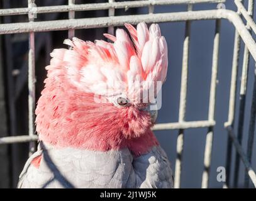
{"label": "dark black and slate-blue background behind the cage bars and bird", "polygon": [[[79,1],[76,3],[99,3],[106,1]],[[67,1],[36,1],[37,6],[67,4]],[[247,5],[247,1],[245,1]],[[0,1],[1,8],[26,7],[26,1]],[[233,0],[226,1],[226,8],[236,11]],[[194,6],[195,10],[216,9],[216,4],[201,4]],[[185,11],[182,6],[156,6],[155,13]],[[147,13],[147,8],[116,10],[116,15]],[[77,12],[75,18],[90,18],[107,16],[108,11]],[[67,13],[38,14],[37,19],[67,19]],[[27,21],[27,16],[12,16],[0,18],[1,23]],[[187,89],[186,121],[207,120],[209,87],[211,82],[211,62],[213,53],[215,21],[193,21],[191,26],[191,46],[189,55],[189,75]],[[162,109],[157,122],[177,122],[179,117],[179,94],[181,87],[182,47],[184,41],[185,23],[161,23],[162,35],[169,46],[169,71],[167,81],[162,90]],[[93,30],[77,30],[75,36],[82,40],[103,39],[106,28]],[[216,180],[216,168],[225,166],[227,133],[223,128],[228,119],[228,100],[230,94],[231,65],[233,56],[233,40],[235,28],[223,20],[221,23],[220,55],[218,86],[216,90],[216,127],[214,129],[213,155],[211,163],[210,188],[221,188],[223,183]],[[65,47],[62,44],[67,38],[67,31],[52,31],[36,33],[36,98],[38,99],[45,79],[45,65],[49,63],[49,53],[53,48]],[[238,72],[238,86],[242,70],[243,43]],[[27,57],[28,34],[0,36],[0,137],[28,133],[28,90],[27,90]],[[251,59],[248,77],[247,106],[243,147],[247,143],[248,119],[252,100],[253,72],[255,62]],[[18,74],[18,75],[17,75]],[[238,87],[238,92],[239,92]],[[238,100],[238,96],[237,96]],[[237,104],[238,109],[239,104]],[[238,110],[237,110],[238,111]],[[237,128],[237,114],[235,128]],[[175,166],[176,139],[178,131],[156,131],[160,144]],[[184,136],[184,157],[182,163],[181,187],[201,187],[203,173],[203,156],[207,129],[187,129]],[[234,149],[233,149],[234,153]],[[0,146],[0,187],[16,187],[18,175],[21,172],[28,155],[28,144]],[[234,155],[234,154],[233,154]],[[255,149],[253,152],[255,156]],[[253,167],[256,161],[253,160]],[[232,175],[233,175],[232,163]],[[243,185],[244,166],[240,166],[240,187]]]}

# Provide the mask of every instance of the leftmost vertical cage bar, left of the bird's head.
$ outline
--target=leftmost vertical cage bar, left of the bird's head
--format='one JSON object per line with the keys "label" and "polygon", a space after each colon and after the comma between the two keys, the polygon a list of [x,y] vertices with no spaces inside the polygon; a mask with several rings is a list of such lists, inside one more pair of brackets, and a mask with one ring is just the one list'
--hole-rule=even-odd
{"label": "leftmost vertical cage bar, left of the bird's head", "polygon": [[[28,0],[28,8],[31,13],[28,14],[30,23],[34,21],[33,7],[35,0]],[[28,52],[28,134],[35,134],[35,33],[29,33],[29,52]],[[35,151],[35,142],[30,142],[29,155]]]}

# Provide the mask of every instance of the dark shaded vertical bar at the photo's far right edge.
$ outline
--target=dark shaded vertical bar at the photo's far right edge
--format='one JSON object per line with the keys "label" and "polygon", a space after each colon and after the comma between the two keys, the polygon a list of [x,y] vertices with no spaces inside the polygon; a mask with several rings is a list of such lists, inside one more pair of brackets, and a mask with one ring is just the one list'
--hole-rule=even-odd
{"label": "dark shaded vertical bar at the photo's far right edge", "polygon": [[[249,126],[249,134],[247,141],[247,157],[248,162],[252,161],[252,150],[253,150],[253,141],[254,141],[254,132],[255,132],[255,120],[256,120],[256,70],[254,74],[254,83],[253,83],[253,95],[252,95],[252,107],[250,114],[250,126]],[[249,187],[249,177],[248,172],[245,174],[245,188]]]}

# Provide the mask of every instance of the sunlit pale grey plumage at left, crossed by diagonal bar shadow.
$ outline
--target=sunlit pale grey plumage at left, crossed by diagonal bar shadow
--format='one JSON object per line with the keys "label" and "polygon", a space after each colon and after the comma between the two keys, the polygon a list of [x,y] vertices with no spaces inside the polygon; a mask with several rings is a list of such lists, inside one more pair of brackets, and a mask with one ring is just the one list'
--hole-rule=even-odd
{"label": "sunlit pale grey plumage at left, crossed by diagonal bar shadow", "polygon": [[30,165],[33,158],[21,173],[19,188],[125,188],[127,183],[134,187],[133,157],[128,149],[44,149],[38,168]]}

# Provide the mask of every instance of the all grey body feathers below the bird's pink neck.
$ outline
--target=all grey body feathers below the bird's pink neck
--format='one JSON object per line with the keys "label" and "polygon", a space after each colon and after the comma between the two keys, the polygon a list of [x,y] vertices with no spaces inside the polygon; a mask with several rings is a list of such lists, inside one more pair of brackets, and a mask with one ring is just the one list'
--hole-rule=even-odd
{"label": "all grey body feathers below the bird's pink neck", "polygon": [[[40,166],[31,161],[42,155]],[[21,172],[18,188],[172,188],[172,170],[165,152],[153,147],[135,157],[129,149],[88,151],[44,147]]]}

